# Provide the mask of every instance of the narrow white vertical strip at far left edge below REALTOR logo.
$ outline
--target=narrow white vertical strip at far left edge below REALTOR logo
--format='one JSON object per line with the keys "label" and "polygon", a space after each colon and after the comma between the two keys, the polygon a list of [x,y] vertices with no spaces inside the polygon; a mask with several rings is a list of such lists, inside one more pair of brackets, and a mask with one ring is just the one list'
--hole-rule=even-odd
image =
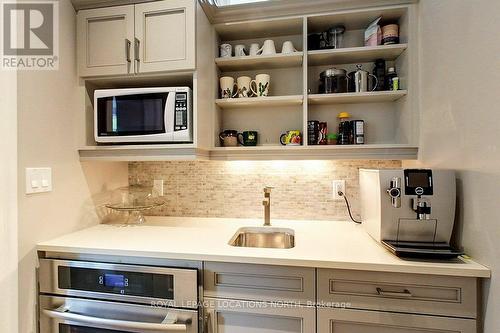
{"label": "narrow white vertical strip at far left edge below REALTOR logo", "polygon": [[16,72],[0,70],[0,332],[17,332]]}

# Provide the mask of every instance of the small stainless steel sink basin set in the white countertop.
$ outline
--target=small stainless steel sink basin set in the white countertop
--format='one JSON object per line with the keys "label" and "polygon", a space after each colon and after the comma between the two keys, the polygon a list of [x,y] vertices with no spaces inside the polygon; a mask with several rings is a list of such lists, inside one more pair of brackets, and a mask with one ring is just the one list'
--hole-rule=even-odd
{"label": "small stainless steel sink basin set in the white countertop", "polygon": [[236,231],[229,245],[290,249],[295,246],[295,232],[287,228],[245,227]]}

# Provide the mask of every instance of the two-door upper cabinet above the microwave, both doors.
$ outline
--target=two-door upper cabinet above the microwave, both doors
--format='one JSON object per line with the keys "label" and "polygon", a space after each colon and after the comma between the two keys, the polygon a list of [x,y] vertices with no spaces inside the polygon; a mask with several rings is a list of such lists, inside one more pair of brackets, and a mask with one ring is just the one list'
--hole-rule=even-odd
{"label": "two-door upper cabinet above the microwave, both doors", "polygon": [[79,75],[194,70],[194,6],[165,0],[79,11]]}

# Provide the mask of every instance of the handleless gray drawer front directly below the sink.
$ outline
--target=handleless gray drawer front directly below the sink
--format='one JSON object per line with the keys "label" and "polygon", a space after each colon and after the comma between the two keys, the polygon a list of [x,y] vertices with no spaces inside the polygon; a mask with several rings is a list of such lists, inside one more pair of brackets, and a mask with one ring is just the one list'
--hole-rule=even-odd
{"label": "handleless gray drawer front directly below the sink", "polygon": [[315,269],[206,262],[204,295],[255,301],[312,304]]}

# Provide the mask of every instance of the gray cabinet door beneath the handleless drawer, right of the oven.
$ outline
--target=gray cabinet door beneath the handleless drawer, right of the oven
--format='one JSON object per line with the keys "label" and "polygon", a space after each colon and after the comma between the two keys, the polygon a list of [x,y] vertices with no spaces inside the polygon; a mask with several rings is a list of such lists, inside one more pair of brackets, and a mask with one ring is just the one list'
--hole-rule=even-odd
{"label": "gray cabinet door beneath the handleless drawer, right of the oven", "polygon": [[205,298],[210,333],[312,333],[315,308]]}

